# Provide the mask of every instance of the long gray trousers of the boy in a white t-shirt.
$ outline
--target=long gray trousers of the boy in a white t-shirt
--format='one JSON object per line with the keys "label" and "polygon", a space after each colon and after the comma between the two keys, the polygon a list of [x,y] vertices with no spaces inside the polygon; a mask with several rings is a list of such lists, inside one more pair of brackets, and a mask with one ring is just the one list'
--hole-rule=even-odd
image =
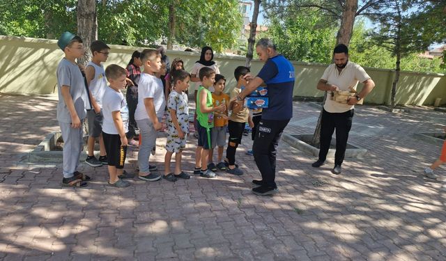
{"label": "long gray trousers of the boy in a white t-shirt", "polygon": [[[158,118],[158,120],[161,122],[161,118]],[[139,134],[141,134],[141,145],[139,145],[138,152],[139,171],[149,173],[148,160],[151,157],[153,147],[156,145],[158,132],[153,127],[152,121],[148,119],[137,120],[137,125],[139,127]]]}

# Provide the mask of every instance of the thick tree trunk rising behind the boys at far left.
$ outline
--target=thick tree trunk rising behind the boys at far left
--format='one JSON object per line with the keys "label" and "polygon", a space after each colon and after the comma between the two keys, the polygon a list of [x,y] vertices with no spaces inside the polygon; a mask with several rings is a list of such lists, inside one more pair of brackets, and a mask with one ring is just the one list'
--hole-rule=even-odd
{"label": "thick tree trunk rising behind the boys at far left", "polygon": [[98,39],[98,19],[95,0],[77,1],[77,35],[82,38],[85,55],[77,63],[86,65],[91,60],[91,42]]}

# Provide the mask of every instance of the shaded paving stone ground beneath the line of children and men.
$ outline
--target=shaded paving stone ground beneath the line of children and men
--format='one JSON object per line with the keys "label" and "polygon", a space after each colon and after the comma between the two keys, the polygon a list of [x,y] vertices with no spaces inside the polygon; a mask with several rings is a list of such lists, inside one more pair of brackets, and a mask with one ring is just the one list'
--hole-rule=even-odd
{"label": "shaded paving stone ground beneath the line of children and men", "polygon": [[[440,168],[438,181],[422,175],[440,144],[412,136],[440,132],[446,113],[358,106],[349,141],[367,157],[346,159],[333,175],[332,159],[312,168],[315,157],[282,141],[279,193],[259,197],[249,137],[238,150],[240,177],[135,179],[114,189],[105,167],[82,164],[94,178],[89,187],[61,188],[61,164],[26,161],[59,129],[54,97],[1,95],[0,111],[0,260],[446,260],[446,173]],[[285,132],[312,133],[318,111],[295,102]],[[187,143],[185,171],[195,143]],[[153,157],[161,171],[163,144]],[[130,150],[128,170],[136,156]]]}

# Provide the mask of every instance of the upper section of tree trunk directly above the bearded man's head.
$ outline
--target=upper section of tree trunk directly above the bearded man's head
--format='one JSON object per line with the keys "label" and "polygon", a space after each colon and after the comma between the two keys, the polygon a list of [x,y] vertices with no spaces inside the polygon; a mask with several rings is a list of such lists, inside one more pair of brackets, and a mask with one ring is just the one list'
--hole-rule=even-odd
{"label": "upper section of tree trunk directly above the bearded man's head", "polygon": [[355,15],[357,10],[357,0],[346,0],[342,8],[341,26],[337,31],[336,45],[340,43],[347,45],[350,43],[355,24]]}

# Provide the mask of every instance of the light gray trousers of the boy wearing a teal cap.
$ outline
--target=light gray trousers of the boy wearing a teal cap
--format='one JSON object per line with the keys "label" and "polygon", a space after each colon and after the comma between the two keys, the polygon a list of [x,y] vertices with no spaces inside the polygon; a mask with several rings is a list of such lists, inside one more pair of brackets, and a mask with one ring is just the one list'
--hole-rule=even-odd
{"label": "light gray trousers of the boy wearing a teal cap", "polygon": [[63,177],[72,177],[79,165],[79,157],[84,147],[82,122],[80,128],[72,128],[70,123],[59,122],[63,138]]}

